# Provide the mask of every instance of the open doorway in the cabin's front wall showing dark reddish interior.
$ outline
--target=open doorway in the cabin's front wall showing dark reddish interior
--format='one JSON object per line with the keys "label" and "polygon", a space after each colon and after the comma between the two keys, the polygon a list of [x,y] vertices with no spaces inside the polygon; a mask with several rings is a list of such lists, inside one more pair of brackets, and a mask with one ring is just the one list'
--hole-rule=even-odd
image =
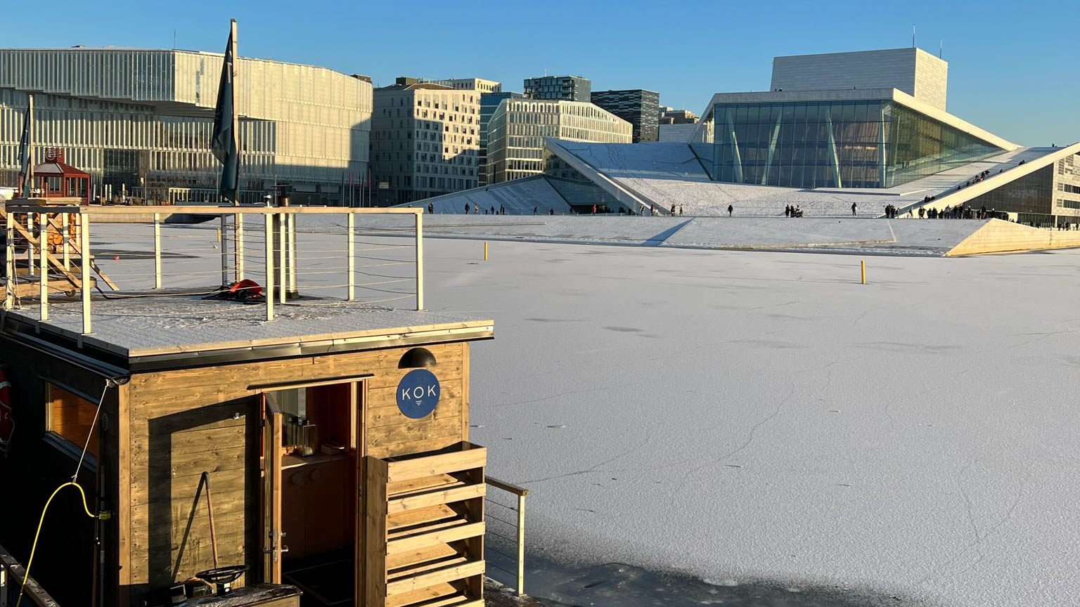
{"label": "open doorway in the cabin's front wall showing dark reddish interior", "polygon": [[303,591],[303,607],[356,605],[363,381],[269,390],[266,581]]}

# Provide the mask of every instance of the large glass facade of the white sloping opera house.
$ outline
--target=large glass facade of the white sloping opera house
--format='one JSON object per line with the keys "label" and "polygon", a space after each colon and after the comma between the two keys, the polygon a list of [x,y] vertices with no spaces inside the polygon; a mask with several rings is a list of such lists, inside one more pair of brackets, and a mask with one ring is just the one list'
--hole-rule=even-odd
{"label": "large glass facade of the white sloping opera house", "polygon": [[720,103],[712,119],[718,181],[891,188],[1003,151],[891,99]]}

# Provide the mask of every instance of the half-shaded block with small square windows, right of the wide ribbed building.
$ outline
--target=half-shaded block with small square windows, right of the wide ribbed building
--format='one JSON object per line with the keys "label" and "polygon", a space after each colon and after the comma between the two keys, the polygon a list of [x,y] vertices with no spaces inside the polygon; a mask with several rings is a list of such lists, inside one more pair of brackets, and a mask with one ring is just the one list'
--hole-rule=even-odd
{"label": "half-shaded block with small square windows, right of the wide ribbed building", "polygon": [[430,83],[375,90],[372,180],[378,204],[478,185],[480,93]]}

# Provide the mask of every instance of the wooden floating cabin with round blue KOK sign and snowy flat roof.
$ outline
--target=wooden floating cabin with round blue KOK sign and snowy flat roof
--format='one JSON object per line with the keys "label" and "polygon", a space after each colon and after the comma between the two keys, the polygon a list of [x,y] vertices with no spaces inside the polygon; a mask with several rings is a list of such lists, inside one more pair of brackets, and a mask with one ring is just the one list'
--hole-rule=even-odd
{"label": "wooden floating cabin with round blue KOK sign and snowy flat roof", "polygon": [[[95,298],[89,333],[32,301],[4,311],[0,545],[28,561],[87,439],[78,484],[108,513],[70,488],[50,505],[30,576],[62,607],[483,605],[469,360],[492,322],[300,295],[273,322]],[[192,597],[210,569],[242,572]]]}

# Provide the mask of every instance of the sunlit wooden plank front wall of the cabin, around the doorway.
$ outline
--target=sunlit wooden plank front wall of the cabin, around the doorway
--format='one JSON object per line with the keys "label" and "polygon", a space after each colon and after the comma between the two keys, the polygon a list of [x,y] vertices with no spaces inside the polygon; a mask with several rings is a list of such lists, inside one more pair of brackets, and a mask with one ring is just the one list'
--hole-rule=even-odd
{"label": "sunlit wooden plank front wall of the cabin, around the doorway", "polygon": [[409,348],[133,376],[131,544],[130,556],[122,555],[130,558],[132,605],[213,567],[205,504],[194,504],[203,471],[211,478],[220,564],[247,564],[252,574],[241,581],[261,580],[261,412],[260,392],[252,387],[374,375],[365,381],[361,457],[422,453],[468,440],[469,345],[424,348],[435,355],[429,370],[440,379],[441,396],[434,413],[419,420],[396,404],[397,383],[410,370],[397,363]]}

